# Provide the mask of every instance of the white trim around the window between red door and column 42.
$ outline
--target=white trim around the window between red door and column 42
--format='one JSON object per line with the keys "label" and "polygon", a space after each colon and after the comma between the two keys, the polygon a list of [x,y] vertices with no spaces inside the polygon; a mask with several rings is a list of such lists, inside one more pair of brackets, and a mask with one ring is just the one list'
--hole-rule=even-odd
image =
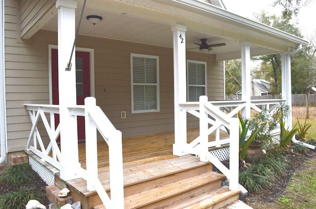
{"label": "white trim around the window between red door and column 42", "polygon": [[[141,84],[141,85],[148,85],[148,86],[156,86],[156,101],[157,101],[157,109],[156,110],[134,110],[134,81],[133,81],[133,57],[142,57],[142,58],[151,58],[157,60],[157,83],[156,85],[153,84]],[[132,114],[134,113],[153,113],[153,112],[160,112],[160,96],[159,96],[159,57],[153,55],[142,55],[142,54],[130,54],[130,75],[131,75],[131,101],[132,101]]]}

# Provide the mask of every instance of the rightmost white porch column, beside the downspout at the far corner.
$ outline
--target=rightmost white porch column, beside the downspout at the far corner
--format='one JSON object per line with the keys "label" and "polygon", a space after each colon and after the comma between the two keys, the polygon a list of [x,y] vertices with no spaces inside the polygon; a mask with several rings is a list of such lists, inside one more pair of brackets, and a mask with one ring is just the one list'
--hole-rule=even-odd
{"label": "rightmost white porch column, beside the downspout at the far corner", "polygon": [[[291,84],[291,57],[287,53],[281,53],[281,82],[282,99],[285,99],[285,105],[288,105],[290,112],[285,119],[286,127],[292,129],[292,84]],[[286,128],[285,127],[285,128]]]}

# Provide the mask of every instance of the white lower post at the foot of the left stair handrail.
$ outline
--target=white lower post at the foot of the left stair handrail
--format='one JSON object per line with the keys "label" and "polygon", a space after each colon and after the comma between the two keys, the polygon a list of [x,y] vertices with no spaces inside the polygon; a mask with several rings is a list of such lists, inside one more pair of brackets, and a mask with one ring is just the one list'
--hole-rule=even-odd
{"label": "white lower post at the foot of the left stair handrail", "polygon": [[116,130],[109,138],[111,203],[115,209],[124,209],[122,133]]}

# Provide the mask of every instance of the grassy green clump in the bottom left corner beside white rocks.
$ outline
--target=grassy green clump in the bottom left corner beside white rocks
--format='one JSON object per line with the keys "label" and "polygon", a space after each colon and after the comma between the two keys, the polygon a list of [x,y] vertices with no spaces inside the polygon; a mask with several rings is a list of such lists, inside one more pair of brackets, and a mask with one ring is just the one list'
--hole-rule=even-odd
{"label": "grassy green clump in the bottom left corner beside white rocks", "polygon": [[25,209],[29,200],[41,201],[33,189],[19,188],[14,192],[6,192],[0,196],[0,209]]}

